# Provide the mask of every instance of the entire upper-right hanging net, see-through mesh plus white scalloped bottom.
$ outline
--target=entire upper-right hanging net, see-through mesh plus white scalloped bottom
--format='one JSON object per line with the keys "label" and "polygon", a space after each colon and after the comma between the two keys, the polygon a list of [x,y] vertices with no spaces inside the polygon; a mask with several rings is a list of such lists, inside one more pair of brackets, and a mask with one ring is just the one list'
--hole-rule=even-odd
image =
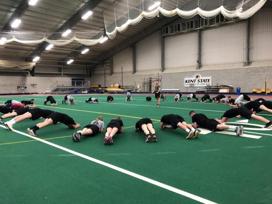
{"label": "entire upper-right hanging net, see-through mesh plus white scalloped bottom", "polygon": [[117,0],[104,12],[106,34],[113,39],[116,32],[124,32],[128,25],[138,24],[142,18],[154,18],[161,13],[166,17],[179,15],[191,18],[214,18],[222,13],[225,18],[251,17],[266,0]]}

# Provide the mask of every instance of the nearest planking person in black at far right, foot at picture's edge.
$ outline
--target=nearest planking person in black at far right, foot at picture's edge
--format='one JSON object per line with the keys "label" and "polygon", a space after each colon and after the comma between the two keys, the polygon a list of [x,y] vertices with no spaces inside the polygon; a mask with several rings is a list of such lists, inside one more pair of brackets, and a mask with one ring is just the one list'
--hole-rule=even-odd
{"label": "nearest planking person in black at far right, foot at picture's edge", "polygon": [[269,120],[265,119],[262,116],[255,115],[250,110],[248,110],[248,108],[246,108],[244,106],[241,106],[239,108],[229,109],[222,116],[222,120],[218,120],[217,118],[215,120],[218,121],[218,122],[220,122],[220,123],[228,122],[229,118],[235,118],[238,115],[241,115],[241,117],[244,117],[244,118],[246,118],[248,120],[250,118],[254,118],[256,120],[265,122],[266,125],[264,126],[264,128],[270,128],[270,127],[272,127],[272,121],[269,121]]}

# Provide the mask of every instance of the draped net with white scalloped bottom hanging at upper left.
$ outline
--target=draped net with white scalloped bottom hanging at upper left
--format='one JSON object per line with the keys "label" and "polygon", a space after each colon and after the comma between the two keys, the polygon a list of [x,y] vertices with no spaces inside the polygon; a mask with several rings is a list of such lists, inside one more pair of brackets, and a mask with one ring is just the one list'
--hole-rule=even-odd
{"label": "draped net with white scalloped bottom hanging at upper left", "polygon": [[0,31],[0,44],[18,42],[22,44],[40,44],[44,41],[54,46],[67,45],[73,41],[92,46],[103,39],[103,30],[71,31],[67,36],[63,32],[39,31]]}

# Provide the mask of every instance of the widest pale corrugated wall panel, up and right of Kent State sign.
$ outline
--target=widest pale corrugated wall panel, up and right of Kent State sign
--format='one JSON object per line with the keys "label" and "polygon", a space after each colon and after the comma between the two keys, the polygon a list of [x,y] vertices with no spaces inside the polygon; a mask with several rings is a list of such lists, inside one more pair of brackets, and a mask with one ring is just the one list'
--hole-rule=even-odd
{"label": "widest pale corrugated wall panel, up and right of Kent State sign", "polygon": [[202,32],[202,65],[245,61],[246,22]]}

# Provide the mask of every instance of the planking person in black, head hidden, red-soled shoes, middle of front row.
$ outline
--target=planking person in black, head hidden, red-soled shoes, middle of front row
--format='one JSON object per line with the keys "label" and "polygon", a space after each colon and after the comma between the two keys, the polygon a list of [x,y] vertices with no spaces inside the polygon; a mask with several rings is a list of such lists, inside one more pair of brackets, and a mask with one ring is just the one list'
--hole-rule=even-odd
{"label": "planking person in black, head hidden, red-soled shoes, middle of front row", "polygon": [[153,128],[153,123],[150,120],[150,118],[142,118],[135,124],[135,132],[137,131],[143,131],[144,134],[146,134],[145,141],[149,142],[151,140],[151,136],[149,134],[149,131],[151,132],[153,136],[153,142],[157,142],[157,137],[155,134],[155,130]]}

